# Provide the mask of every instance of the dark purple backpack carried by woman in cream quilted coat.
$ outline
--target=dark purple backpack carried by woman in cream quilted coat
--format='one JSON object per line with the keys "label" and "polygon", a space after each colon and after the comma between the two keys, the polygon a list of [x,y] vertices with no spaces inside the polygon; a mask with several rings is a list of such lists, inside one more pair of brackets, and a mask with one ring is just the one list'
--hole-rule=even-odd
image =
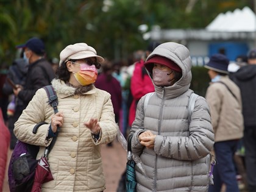
{"label": "dark purple backpack carried by woman in cream quilted coat", "polygon": [[[49,105],[54,108],[54,113],[58,112],[57,105],[57,95],[54,91],[52,85],[47,85],[43,87],[49,98]],[[45,122],[40,122],[35,125],[33,133],[37,133],[37,129],[43,125],[47,124]],[[59,127],[58,127],[59,128]],[[58,131],[57,131],[58,132]],[[56,132],[56,133],[57,133]],[[56,137],[53,138],[51,144],[46,147],[47,155],[51,151],[52,146],[56,141]],[[9,162],[8,178],[9,178],[9,188],[10,192],[20,192],[20,191],[31,191],[34,184],[35,169],[37,168],[38,160],[37,154],[39,151],[39,146],[24,143],[22,141],[17,141],[15,148],[13,149],[12,156]]]}

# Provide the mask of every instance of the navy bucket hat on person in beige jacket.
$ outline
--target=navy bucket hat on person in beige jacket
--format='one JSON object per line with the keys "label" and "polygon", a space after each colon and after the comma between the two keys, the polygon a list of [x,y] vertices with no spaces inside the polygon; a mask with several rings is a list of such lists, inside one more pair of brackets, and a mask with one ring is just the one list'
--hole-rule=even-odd
{"label": "navy bucket hat on person in beige jacket", "polygon": [[228,74],[227,66],[229,66],[229,59],[227,59],[225,55],[214,54],[210,58],[210,61],[205,65],[205,68],[212,69],[219,73]]}

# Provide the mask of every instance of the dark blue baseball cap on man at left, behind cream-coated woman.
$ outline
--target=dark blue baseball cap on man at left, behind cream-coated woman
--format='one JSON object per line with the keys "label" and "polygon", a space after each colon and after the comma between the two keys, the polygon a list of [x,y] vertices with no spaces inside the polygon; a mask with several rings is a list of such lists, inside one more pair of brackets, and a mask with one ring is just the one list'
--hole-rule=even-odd
{"label": "dark blue baseball cap on man at left, behind cream-coated woman", "polygon": [[38,55],[43,55],[45,52],[43,41],[37,37],[30,38],[26,43],[17,45],[16,48],[29,48]]}

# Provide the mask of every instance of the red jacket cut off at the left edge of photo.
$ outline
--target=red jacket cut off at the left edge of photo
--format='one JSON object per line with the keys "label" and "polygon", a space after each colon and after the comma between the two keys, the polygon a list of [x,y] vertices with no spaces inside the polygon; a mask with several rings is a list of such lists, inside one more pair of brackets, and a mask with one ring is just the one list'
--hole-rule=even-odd
{"label": "red jacket cut off at the left edge of photo", "polygon": [[2,184],[4,183],[5,176],[5,168],[7,161],[7,152],[9,149],[10,143],[10,132],[9,129],[4,124],[4,118],[2,117],[2,109],[0,107],[0,146],[1,146],[1,154],[0,154],[0,191],[2,191]]}

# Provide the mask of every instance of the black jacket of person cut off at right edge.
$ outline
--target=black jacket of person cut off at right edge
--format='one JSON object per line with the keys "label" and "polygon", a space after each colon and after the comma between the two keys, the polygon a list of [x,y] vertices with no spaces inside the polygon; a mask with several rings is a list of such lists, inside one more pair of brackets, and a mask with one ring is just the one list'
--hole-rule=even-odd
{"label": "black jacket of person cut off at right edge", "polygon": [[256,126],[256,65],[246,65],[230,77],[240,88],[245,126]]}

